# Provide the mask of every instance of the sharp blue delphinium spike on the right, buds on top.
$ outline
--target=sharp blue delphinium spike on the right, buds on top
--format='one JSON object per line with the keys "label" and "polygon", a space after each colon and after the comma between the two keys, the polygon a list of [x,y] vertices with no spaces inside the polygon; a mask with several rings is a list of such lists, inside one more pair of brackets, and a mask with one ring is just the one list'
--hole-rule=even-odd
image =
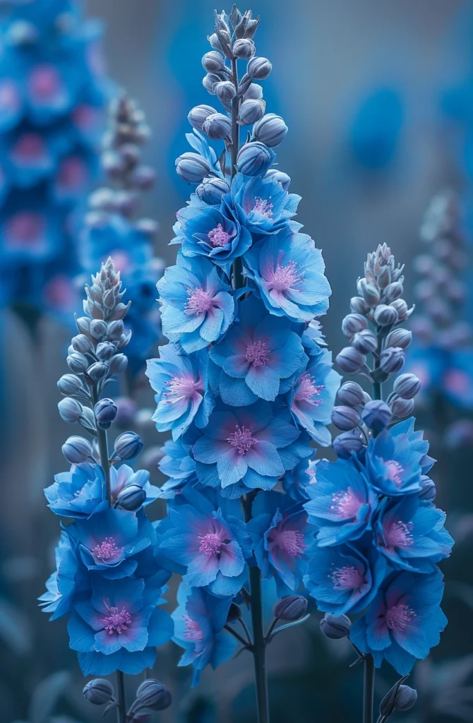
{"label": "sharp blue delphinium spike on the right, buds on top", "polygon": [[[338,461],[318,464],[304,505],[317,531],[304,583],[328,613],[323,633],[349,636],[365,664],[363,723],[373,721],[375,667],[385,659],[408,675],[447,622],[437,563],[450,555],[453,540],[445,513],[433,504],[428,442],[410,416],[420,382],[402,373],[412,339],[402,326],[412,312],[402,298],[402,270],[385,244],[368,254],[359,295],[342,322],[350,346],[336,361],[346,374],[368,377],[372,395],[355,381],[341,385],[332,415],[343,430],[333,441]],[[388,382],[392,391],[383,395]],[[349,612],[358,615],[353,624]],[[399,691],[407,697],[405,688]],[[383,722],[396,709],[396,691],[382,705]]]}

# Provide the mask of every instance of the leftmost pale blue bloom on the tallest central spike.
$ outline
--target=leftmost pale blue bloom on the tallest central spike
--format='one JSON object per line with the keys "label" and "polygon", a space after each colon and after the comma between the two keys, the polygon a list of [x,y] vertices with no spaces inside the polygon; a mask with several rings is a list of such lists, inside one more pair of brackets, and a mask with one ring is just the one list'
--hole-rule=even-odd
{"label": "leftmost pale blue bloom on the tallest central spike", "polygon": [[213,408],[207,386],[207,354],[184,354],[175,344],[160,346],[159,359],[148,359],[146,375],[155,390],[153,420],[158,432],[172,431],[178,439],[189,424],[205,427]]}

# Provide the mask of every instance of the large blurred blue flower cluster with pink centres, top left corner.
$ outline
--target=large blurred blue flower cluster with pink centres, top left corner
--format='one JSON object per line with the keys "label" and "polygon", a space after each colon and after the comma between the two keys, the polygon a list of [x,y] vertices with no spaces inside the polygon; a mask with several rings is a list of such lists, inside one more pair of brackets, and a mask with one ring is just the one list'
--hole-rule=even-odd
{"label": "large blurred blue flower cluster with pink centres, top left corner", "polygon": [[1,4],[1,285],[17,307],[74,307],[72,212],[95,176],[108,93],[100,38],[71,0]]}

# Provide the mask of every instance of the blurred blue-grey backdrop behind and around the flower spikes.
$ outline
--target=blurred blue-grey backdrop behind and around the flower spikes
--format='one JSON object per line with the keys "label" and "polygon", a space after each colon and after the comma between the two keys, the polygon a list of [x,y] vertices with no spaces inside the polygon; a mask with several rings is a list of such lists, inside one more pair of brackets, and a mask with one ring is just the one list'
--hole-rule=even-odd
{"label": "blurred blue-grey backdrop behind and around the flower spikes", "polygon": [[[145,160],[158,182],[142,209],[159,221],[155,254],[166,265],[176,250],[167,246],[174,213],[189,194],[174,173],[174,159],[187,150],[189,108],[211,102],[200,58],[208,50],[213,7],[213,0],[88,0],[85,6],[88,16],[104,21],[108,77],[140,103],[153,131]],[[391,247],[406,264],[405,296],[413,301],[419,225],[432,195],[445,187],[458,192],[466,237],[473,233],[473,3],[255,0],[252,10],[262,16],[258,54],[273,63],[264,82],[267,110],[289,125],[278,164],[302,195],[299,220],[323,249],[333,288],[323,325],[336,354],[344,346],[341,320],[367,252],[380,242]],[[14,273],[9,270],[10,281]],[[469,267],[469,286],[471,278]],[[67,371],[71,325],[64,309],[41,305],[40,285],[41,313],[32,334],[12,309],[5,277],[2,283],[0,721],[95,722],[100,714],[82,699],[83,679],[64,620],[48,623],[35,603],[58,535],[42,489],[65,469],[61,444],[72,433],[56,411],[56,380]],[[473,290],[459,311],[469,322],[472,299]],[[136,428],[153,447],[160,442],[146,411],[153,397],[140,380],[135,395],[145,409]],[[404,720],[473,721],[472,411],[469,403],[445,401],[441,388],[432,388],[418,416],[440,459],[432,477],[457,545],[443,565],[450,624],[438,649],[414,669],[411,685],[419,702]],[[447,434],[458,420],[463,426]],[[152,460],[150,466],[159,481]],[[276,638],[268,656],[274,723],[359,721],[362,672],[349,669],[345,641],[328,644],[320,636],[317,614]],[[172,643],[158,656],[155,676],[173,690],[175,703],[156,720],[255,720],[252,670],[244,655],[206,672],[193,690],[187,669],[176,668],[178,659]],[[378,696],[393,680],[383,669]]]}

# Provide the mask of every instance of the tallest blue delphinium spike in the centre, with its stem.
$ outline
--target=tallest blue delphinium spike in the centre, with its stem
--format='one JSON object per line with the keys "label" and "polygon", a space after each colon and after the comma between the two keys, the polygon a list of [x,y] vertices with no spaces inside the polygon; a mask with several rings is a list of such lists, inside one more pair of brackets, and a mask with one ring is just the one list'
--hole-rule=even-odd
{"label": "tallest blue delphinium spike in the centre, with its stem", "polygon": [[[242,645],[254,657],[257,719],[267,723],[265,649],[306,617],[297,592],[314,534],[303,509],[311,442],[331,443],[340,377],[316,320],[331,294],[322,255],[294,221],[291,179],[272,167],[287,127],[265,114],[260,81],[271,64],[256,54],[259,18],[234,6],[214,20],[203,85],[223,107],[188,115],[192,151],[176,171],[195,192],[176,214],[176,265],[158,282],[170,343],[147,373],[156,427],[172,433],[160,529],[163,555],[183,576],[173,616],[181,664],[192,663],[197,683]],[[251,128],[240,143],[242,127]],[[281,598],[266,631],[262,577]]]}

